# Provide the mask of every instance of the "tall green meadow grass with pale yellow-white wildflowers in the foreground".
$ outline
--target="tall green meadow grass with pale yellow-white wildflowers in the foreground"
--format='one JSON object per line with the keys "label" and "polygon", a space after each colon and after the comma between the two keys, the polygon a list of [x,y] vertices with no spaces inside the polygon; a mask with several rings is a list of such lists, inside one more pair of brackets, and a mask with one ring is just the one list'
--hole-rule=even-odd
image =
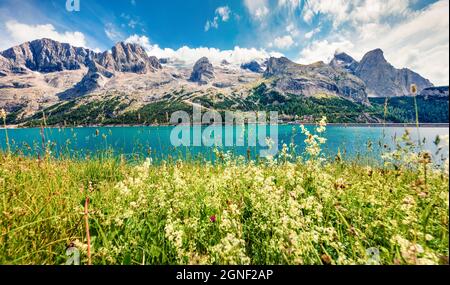
{"label": "tall green meadow grass with pale yellow-white wildflowers in the foreground", "polygon": [[2,153],[0,263],[448,263],[448,161],[407,133],[382,165],[327,160],[324,123],[302,131],[307,153],[259,162]]}

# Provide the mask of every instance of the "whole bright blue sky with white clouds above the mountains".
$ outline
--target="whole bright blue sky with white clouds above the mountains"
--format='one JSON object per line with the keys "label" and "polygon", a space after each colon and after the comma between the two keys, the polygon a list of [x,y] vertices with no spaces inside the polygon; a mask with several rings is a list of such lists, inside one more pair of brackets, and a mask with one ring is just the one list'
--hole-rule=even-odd
{"label": "whole bright blue sky with white clouds above the mountains", "polygon": [[[449,0],[0,0],[0,49],[50,37],[96,50],[138,42],[149,53],[299,63],[382,48],[396,67],[448,84]],[[184,48],[182,48],[184,47]],[[236,47],[240,47],[238,50]],[[180,49],[182,48],[182,49]]]}

